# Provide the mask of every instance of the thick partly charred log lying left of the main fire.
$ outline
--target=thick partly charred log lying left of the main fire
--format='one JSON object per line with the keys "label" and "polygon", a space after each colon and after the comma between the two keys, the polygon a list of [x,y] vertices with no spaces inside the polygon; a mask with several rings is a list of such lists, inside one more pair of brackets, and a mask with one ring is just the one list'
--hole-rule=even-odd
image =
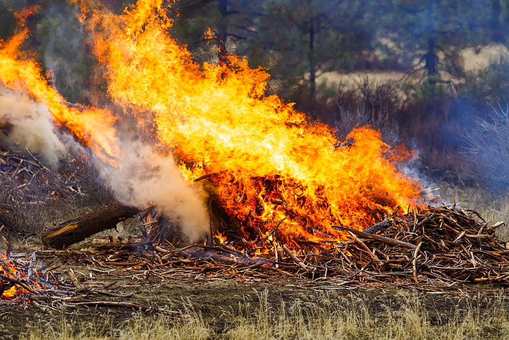
{"label": "thick partly charred log lying left of the main fire", "polygon": [[59,225],[50,226],[42,234],[42,241],[53,248],[63,249],[103,230],[115,228],[118,222],[140,211],[138,208],[112,203]]}

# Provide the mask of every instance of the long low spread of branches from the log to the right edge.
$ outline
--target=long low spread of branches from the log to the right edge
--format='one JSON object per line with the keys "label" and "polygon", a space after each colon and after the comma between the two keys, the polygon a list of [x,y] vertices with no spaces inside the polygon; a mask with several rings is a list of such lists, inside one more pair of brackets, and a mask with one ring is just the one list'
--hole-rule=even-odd
{"label": "long low spread of branches from the log to the right edge", "polygon": [[[126,279],[285,279],[311,288],[327,283],[320,287],[416,285],[436,292],[461,285],[473,290],[470,283],[509,283],[509,249],[495,236],[500,225],[503,222],[490,224],[473,210],[438,207],[394,216],[385,235],[344,228],[351,240],[328,243],[327,250],[298,250],[274,238],[273,248],[262,256],[239,251],[231,242],[184,248],[153,244],[138,252],[97,247],[93,257],[90,250],[54,253],[102,268],[90,270]],[[107,238],[103,243],[115,244]]]}

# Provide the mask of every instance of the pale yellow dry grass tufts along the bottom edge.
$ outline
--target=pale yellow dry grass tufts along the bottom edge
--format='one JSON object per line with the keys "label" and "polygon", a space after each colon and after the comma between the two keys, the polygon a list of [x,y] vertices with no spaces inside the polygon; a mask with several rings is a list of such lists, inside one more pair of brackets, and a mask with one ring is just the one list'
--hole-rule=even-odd
{"label": "pale yellow dry grass tufts along the bottom edge", "polygon": [[[405,293],[403,293],[405,294]],[[408,294],[408,292],[406,293]],[[361,296],[321,296],[317,303],[280,301],[274,306],[267,296],[261,303],[249,302],[204,317],[193,308],[178,317],[134,313],[124,322],[98,315],[80,322],[80,315],[58,314],[32,324],[20,338],[26,339],[472,339],[509,336],[509,314],[504,296],[492,298],[486,313],[479,302],[433,310],[409,294],[399,306],[369,307]],[[437,301],[438,302],[438,301]],[[486,302],[486,301],[485,301]],[[444,301],[437,304],[443,308]],[[451,311],[452,310],[452,311]],[[96,311],[98,311],[96,309]],[[98,311],[99,312],[99,311]]]}

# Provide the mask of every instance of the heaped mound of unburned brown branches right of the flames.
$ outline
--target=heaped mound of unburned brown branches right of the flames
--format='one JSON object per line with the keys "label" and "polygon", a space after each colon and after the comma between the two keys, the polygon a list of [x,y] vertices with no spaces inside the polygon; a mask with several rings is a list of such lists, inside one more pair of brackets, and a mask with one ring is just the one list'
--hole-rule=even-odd
{"label": "heaped mound of unburned brown branches right of the flames", "polygon": [[329,272],[357,279],[509,283],[509,249],[495,236],[502,224],[490,225],[470,209],[412,211],[394,218],[385,236],[413,247],[352,235],[328,258],[318,258]]}

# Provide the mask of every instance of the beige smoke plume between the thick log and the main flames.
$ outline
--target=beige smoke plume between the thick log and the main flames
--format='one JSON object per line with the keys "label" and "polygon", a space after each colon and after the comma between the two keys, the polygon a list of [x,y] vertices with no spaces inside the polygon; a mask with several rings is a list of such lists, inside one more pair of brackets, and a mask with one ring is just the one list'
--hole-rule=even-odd
{"label": "beige smoke plume between the thick log and the main flames", "polygon": [[203,241],[210,233],[203,188],[182,177],[171,154],[158,154],[151,146],[132,140],[121,143],[121,148],[117,166],[96,162],[116,199],[142,209],[152,204],[180,226],[189,242]]}

